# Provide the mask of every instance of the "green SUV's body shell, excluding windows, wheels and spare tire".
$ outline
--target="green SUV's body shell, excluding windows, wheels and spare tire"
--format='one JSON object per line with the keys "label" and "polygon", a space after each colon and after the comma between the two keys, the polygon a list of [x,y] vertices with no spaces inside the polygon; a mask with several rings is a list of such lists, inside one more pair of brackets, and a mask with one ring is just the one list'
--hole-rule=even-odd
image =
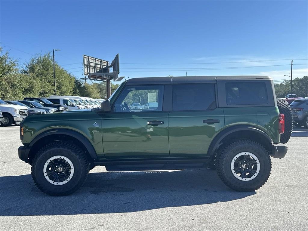
{"label": "green SUV's body shell, excluding windows, wheels and spare tire", "polygon": [[[263,144],[271,156],[283,157],[284,155],[279,156],[277,153],[279,148],[273,151],[275,149],[273,147],[279,145],[280,141],[279,111],[273,81],[267,76],[258,77],[191,77],[191,83],[203,81],[215,85],[216,108],[213,110],[119,113],[85,109],[28,116],[21,124],[23,129],[21,140],[24,148],[19,151],[19,158],[31,164],[34,154],[43,144],[65,137],[83,146],[90,162],[95,165],[107,165],[108,160],[129,162],[129,160],[193,160],[194,158],[208,163],[213,160],[221,142],[234,136],[250,137]],[[166,78],[171,79],[171,77],[161,77],[153,80],[139,78],[131,82],[124,81],[109,99],[111,108],[128,84],[134,86],[137,81],[139,85],[161,84],[168,85],[169,87],[165,89],[171,90],[173,79],[166,82]],[[178,77],[177,81],[180,80]],[[224,106],[224,87],[220,86],[228,81],[265,82],[269,103]],[[165,97],[164,100],[168,100],[167,95]],[[172,99],[170,100],[172,102]],[[221,103],[222,101],[224,103]],[[218,122],[210,123],[210,120]],[[163,121],[163,124],[151,126],[147,124],[148,121]],[[151,135],[148,135],[149,130]]]}

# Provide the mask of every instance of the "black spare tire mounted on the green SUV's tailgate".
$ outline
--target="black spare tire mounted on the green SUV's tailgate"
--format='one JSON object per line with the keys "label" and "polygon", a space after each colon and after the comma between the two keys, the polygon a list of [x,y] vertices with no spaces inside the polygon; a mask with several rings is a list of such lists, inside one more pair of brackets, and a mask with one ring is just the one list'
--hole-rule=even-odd
{"label": "black spare tire mounted on the green SUV's tailgate", "polygon": [[285,132],[280,135],[280,143],[289,141],[293,130],[293,117],[289,103],[285,99],[277,99],[277,107],[280,114],[285,115]]}

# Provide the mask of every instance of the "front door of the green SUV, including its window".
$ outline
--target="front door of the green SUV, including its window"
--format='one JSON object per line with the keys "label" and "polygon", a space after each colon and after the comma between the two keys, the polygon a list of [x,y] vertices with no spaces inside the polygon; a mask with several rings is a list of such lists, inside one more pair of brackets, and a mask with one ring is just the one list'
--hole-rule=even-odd
{"label": "front door of the green SUV, including its window", "polygon": [[106,158],[168,157],[168,111],[163,85],[126,86],[103,115]]}

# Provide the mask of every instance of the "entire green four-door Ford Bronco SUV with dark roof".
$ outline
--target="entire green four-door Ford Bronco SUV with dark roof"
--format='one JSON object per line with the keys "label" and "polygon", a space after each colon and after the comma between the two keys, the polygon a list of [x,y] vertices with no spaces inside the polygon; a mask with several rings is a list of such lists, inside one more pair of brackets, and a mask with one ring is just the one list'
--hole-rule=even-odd
{"label": "entire green four-door Ford Bronco SUV with dark roof", "polygon": [[[138,107],[130,107],[134,103]],[[279,114],[281,113],[281,114]],[[124,81],[100,108],[28,116],[19,158],[44,193],[75,192],[96,165],[107,171],[212,168],[237,191],[260,188],[293,128],[268,76]]]}

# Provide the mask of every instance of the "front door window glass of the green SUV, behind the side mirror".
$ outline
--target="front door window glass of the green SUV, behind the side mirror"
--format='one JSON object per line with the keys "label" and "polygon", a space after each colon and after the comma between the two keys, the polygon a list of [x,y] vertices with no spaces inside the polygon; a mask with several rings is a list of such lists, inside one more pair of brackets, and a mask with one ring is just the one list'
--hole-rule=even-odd
{"label": "front door window glass of the green SUV, behind the side mirror", "polygon": [[115,102],[115,112],[162,111],[164,86],[127,86]]}

